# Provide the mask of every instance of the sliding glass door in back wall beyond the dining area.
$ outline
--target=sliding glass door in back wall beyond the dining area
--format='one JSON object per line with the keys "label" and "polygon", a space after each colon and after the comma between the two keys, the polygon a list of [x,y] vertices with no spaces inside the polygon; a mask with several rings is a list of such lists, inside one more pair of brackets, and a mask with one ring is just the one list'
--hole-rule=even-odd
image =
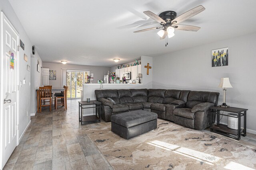
{"label": "sliding glass door in back wall beyond the dining area", "polygon": [[83,84],[87,82],[87,76],[90,71],[84,70],[67,70],[67,86],[68,95],[67,98],[78,99],[81,98],[81,90],[83,89]]}

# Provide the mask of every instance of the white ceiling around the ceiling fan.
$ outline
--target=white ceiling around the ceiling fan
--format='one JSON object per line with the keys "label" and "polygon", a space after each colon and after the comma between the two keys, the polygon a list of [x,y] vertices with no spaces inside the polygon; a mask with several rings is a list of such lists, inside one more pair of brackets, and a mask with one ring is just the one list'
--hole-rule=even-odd
{"label": "white ceiling around the ceiling fan", "polygon": [[[256,31],[256,0],[9,0],[43,62],[114,66],[141,55],[159,56]],[[160,40],[158,30],[133,33],[159,24],[143,11],[180,14],[206,10],[181,24],[198,32],[175,31]],[[141,26],[136,23],[148,23]]]}

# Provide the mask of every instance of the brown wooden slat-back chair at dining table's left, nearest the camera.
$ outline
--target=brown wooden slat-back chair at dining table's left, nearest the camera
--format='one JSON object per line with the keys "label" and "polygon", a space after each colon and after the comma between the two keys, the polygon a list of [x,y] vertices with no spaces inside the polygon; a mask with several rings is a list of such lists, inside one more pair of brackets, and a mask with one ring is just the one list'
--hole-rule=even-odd
{"label": "brown wooden slat-back chair at dining table's left, nearest the camera", "polygon": [[[39,87],[39,100],[40,100],[40,112],[42,111],[42,107],[50,106],[50,111],[52,111],[52,88],[51,87]],[[45,104],[46,101],[49,100],[49,104]]]}

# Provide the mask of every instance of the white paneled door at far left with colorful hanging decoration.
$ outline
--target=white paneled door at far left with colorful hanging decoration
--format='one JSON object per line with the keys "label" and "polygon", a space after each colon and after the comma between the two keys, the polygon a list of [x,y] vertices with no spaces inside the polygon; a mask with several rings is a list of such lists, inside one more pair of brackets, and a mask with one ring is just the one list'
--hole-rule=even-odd
{"label": "white paneled door at far left with colorful hanging decoration", "polygon": [[[18,145],[18,32],[1,12],[1,160],[0,169]],[[12,60],[13,59],[13,60]],[[12,60],[12,61],[11,61]]]}

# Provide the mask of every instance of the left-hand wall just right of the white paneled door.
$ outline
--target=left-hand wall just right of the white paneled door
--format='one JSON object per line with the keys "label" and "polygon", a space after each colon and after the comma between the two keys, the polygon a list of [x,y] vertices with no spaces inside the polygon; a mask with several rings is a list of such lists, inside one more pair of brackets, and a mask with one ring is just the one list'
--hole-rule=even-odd
{"label": "left-hand wall just right of the white paneled door", "polygon": [[[20,68],[19,68],[19,74],[20,74],[20,81],[23,79],[26,80],[26,84],[22,84],[22,87],[20,88],[20,109],[19,109],[19,127],[20,127],[20,137],[22,137],[22,134],[26,130],[26,127],[30,123],[30,86],[29,82],[30,80],[30,72],[27,71],[27,64],[31,66],[31,60],[30,60],[30,54],[32,53],[32,42],[30,41],[26,31],[22,27],[22,24],[20,23],[18,17],[16,16],[14,10],[12,9],[12,6],[10,5],[8,0],[1,0],[0,2],[0,11],[4,12],[8,20],[12,23],[14,28],[18,31],[20,35],[20,39],[25,45],[25,50],[20,48]],[[24,53],[28,56],[28,62],[24,61]],[[39,55],[38,55],[38,58]],[[30,67],[31,68],[31,67]],[[28,115],[27,115],[28,111]]]}

